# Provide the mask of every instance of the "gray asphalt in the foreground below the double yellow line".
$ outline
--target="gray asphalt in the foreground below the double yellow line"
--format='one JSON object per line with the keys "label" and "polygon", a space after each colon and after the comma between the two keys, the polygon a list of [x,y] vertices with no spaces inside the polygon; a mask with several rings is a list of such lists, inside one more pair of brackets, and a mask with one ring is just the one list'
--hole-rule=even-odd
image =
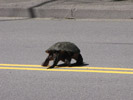
{"label": "gray asphalt in the foreground below the double yellow line", "polygon": [[132,100],[133,76],[0,70],[1,100]]}

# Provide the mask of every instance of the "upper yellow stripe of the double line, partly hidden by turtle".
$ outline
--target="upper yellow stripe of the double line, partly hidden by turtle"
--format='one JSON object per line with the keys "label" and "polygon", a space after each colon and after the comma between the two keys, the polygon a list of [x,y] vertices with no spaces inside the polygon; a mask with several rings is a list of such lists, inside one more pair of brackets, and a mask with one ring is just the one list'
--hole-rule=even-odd
{"label": "upper yellow stripe of the double line, partly hidden by turtle", "polygon": [[[24,65],[24,64],[0,64],[0,66],[15,66],[15,67],[42,67],[41,65]],[[46,66],[47,67],[47,66]],[[43,68],[43,67],[42,67]],[[59,67],[59,68],[74,68],[74,69],[99,69],[99,70],[124,70],[133,71],[133,68],[109,68],[109,67]]]}

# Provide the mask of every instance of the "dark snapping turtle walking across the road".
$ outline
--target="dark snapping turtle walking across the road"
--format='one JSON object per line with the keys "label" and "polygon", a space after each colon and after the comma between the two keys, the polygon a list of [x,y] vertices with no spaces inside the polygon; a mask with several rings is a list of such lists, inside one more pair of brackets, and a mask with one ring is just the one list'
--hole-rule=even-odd
{"label": "dark snapping turtle walking across the road", "polygon": [[49,64],[49,61],[51,60],[54,61],[53,65],[48,67],[48,69],[54,68],[60,60],[68,66],[71,66],[71,59],[76,60],[75,65],[83,64],[83,58],[80,54],[80,49],[74,43],[71,42],[57,42],[50,48],[48,48],[46,50],[46,53],[48,53],[49,55],[42,63],[42,66],[47,66]]}

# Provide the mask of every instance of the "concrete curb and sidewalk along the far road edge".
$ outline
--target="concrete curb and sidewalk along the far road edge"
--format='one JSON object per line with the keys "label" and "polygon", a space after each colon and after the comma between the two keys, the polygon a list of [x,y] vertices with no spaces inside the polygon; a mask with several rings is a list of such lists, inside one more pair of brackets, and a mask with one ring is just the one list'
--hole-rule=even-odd
{"label": "concrete curb and sidewalk along the far road edge", "polygon": [[0,0],[0,17],[132,19],[133,2],[132,0]]}

